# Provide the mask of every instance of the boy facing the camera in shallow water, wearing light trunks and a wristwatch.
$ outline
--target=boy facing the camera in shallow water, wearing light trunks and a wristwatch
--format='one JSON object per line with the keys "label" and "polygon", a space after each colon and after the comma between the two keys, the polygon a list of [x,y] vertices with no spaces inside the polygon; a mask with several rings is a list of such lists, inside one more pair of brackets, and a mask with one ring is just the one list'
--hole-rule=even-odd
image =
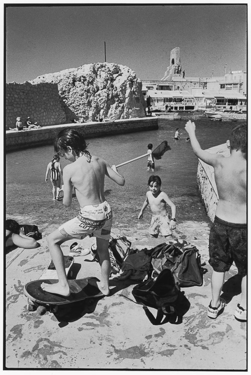
{"label": "boy facing the camera in shallow water, wearing light trunks and a wristwatch", "polygon": [[[143,218],[143,211],[150,205],[152,212],[149,233],[157,238],[158,234],[162,234],[165,238],[172,239],[172,230],[176,228],[176,207],[168,198],[168,195],[160,190],[161,179],[159,176],[151,175],[148,179],[149,191],[146,192],[146,198],[142,208],[138,214],[138,219]],[[167,213],[166,204],[171,208],[171,219]]]}

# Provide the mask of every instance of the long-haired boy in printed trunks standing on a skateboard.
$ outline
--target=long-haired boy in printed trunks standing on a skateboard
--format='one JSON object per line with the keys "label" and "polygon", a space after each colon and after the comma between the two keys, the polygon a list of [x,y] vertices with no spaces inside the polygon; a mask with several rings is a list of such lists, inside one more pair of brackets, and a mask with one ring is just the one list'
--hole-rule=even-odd
{"label": "long-haired boy in printed trunks standing on a skateboard", "polygon": [[112,212],[104,197],[104,176],[118,185],[124,185],[124,177],[118,174],[115,165],[110,165],[98,156],[90,155],[85,140],[76,130],[61,130],[55,141],[54,149],[60,156],[71,161],[63,168],[63,204],[71,204],[72,186],[80,205],[78,214],[48,235],[47,243],[54,262],[58,283],[42,283],[42,289],[64,296],[70,294],[64,269],[63,253],[60,244],[72,238],[84,238],[93,233],[96,237],[97,253],[101,265],[99,290],[109,294],[110,258],[108,243],[112,224]]}

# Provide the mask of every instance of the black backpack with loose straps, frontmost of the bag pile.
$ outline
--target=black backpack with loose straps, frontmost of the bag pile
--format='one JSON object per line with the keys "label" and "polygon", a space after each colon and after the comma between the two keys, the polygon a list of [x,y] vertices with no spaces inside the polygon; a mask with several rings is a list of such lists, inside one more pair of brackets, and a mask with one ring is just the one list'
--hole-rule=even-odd
{"label": "black backpack with loose straps, frontmost of the bag pile", "polygon": [[[169,269],[163,269],[156,279],[149,278],[135,285],[132,295],[136,303],[142,304],[146,316],[154,325],[167,321],[178,324],[190,307],[190,302],[180,291]],[[148,307],[157,310],[156,317]]]}

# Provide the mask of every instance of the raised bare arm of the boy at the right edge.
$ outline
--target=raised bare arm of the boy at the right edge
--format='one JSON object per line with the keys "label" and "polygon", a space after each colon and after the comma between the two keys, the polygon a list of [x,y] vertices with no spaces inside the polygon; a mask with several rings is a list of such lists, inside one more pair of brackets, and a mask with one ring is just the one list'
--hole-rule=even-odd
{"label": "raised bare arm of the boy at the right edge", "polygon": [[210,153],[208,151],[203,150],[200,147],[200,144],[196,138],[195,135],[195,124],[194,122],[191,122],[191,120],[187,121],[185,124],[185,130],[187,131],[189,137],[191,146],[193,149],[193,152],[195,155],[200,158],[202,161],[204,161],[206,164],[214,166],[217,162],[217,159],[219,157],[223,157],[222,155],[218,155],[216,153]]}

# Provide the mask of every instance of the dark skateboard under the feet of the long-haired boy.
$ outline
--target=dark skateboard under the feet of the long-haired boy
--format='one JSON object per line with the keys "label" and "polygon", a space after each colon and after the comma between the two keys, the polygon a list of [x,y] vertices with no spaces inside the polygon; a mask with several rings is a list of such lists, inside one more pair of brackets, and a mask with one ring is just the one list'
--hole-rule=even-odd
{"label": "dark skateboard under the feet of the long-haired boy", "polygon": [[[81,301],[87,298],[103,297],[103,293],[100,292],[96,285],[96,281],[99,281],[96,277],[85,277],[76,280],[68,280],[70,295],[64,297],[58,294],[49,293],[41,288],[41,283],[47,284],[56,283],[55,279],[39,279],[28,282],[23,289],[24,294],[28,300],[36,307],[43,307],[37,311],[40,315],[49,309],[51,312],[56,312],[59,305]],[[29,308],[28,308],[29,309]]]}

